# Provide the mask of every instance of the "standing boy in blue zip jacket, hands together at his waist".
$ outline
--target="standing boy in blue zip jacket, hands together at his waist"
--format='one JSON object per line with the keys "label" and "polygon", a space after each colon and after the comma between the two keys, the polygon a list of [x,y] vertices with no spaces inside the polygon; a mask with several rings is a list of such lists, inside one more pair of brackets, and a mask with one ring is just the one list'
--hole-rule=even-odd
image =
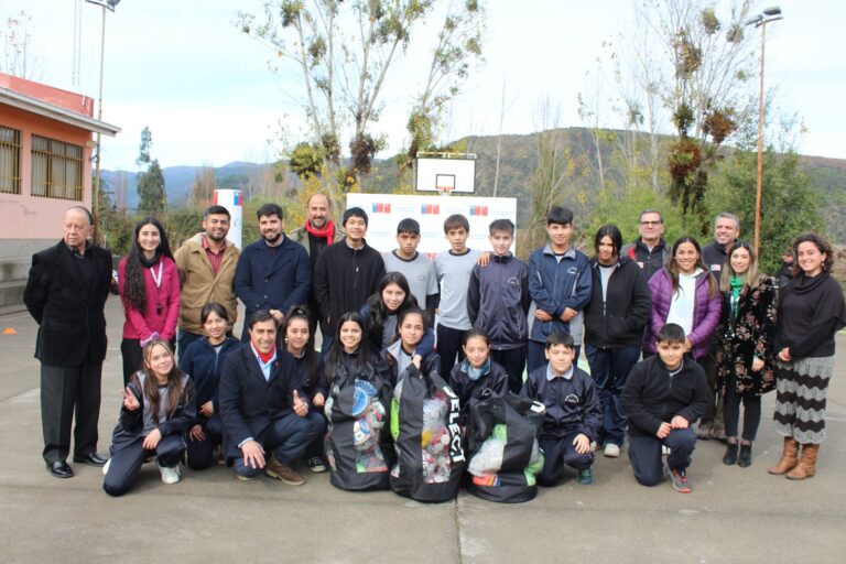
{"label": "standing boy in blue zip jacket, hands together at his waist", "polygon": [[529,371],[543,365],[546,337],[553,330],[573,335],[575,361],[582,345],[584,316],[593,285],[590,261],[571,243],[573,212],[552,206],[546,214],[550,242],[529,257],[529,294],[534,319],[529,339]]}

